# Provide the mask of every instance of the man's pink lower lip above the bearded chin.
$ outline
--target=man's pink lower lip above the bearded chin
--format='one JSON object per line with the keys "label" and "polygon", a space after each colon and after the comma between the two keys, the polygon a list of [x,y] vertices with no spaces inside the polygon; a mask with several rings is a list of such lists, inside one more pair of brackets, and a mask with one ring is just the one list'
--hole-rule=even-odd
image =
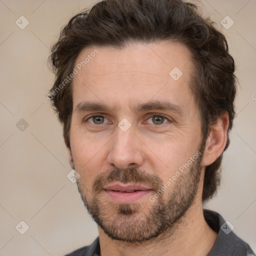
{"label": "man's pink lower lip above the bearded chin", "polygon": [[145,195],[149,195],[152,193],[152,189],[148,190],[136,190],[134,192],[120,192],[120,191],[114,191],[114,190],[105,190],[106,194],[112,199],[113,201],[119,202],[119,203],[132,203],[136,200],[142,198]]}

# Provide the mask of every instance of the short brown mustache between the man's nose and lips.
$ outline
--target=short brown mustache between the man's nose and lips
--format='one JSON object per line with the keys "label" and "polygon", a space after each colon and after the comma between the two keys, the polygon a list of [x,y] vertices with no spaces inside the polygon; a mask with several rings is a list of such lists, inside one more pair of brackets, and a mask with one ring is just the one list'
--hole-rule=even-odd
{"label": "short brown mustache between the man's nose and lips", "polygon": [[110,172],[100,173],[96,176],[92,185],[94,193],[100,192],[104,186],[111,182],[133,183],[150,187],[153,191],[158,191],[162,187],[162,180],[156,176],[146,173],[134,167],[119,169],[114,168]]}

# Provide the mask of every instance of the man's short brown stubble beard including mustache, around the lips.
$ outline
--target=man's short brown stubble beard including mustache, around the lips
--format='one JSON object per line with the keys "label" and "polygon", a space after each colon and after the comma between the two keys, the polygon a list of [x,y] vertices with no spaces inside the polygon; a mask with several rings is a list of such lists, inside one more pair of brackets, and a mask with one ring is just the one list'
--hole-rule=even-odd
{"label": "man's short brown stubble beard including mustache, around the lips", "polygon": [[[199,148],[200,152],[203,152]],[[99,174],[92,186],[92,197],[87,199],[86,189],[77,180],[78,191],[88,213],[111,238],[123,242],[143,242],[168,232],[171,234],[179,220],[192,206],[201,174],[202,154],[154,202],[115,203],[102,198],[102,188],[112,181],[147,184],[154,192],[163,186],[158,176],[136,168],[113,169]]]}

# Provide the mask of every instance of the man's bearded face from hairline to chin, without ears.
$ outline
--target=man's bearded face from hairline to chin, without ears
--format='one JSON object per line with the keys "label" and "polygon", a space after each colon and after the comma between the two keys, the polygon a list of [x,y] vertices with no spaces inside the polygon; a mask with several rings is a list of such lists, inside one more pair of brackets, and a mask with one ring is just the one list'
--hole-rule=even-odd
{"label": "man's bearded face from hairline to chin, without ears", "polygon": [[[95,48],[84,48],[75,66]],[[108,236],[143,241],[174,227],[200,197],[203,141],[188,87],[191,54],[172,42],[97,49],[73,78],[77,185]]]}

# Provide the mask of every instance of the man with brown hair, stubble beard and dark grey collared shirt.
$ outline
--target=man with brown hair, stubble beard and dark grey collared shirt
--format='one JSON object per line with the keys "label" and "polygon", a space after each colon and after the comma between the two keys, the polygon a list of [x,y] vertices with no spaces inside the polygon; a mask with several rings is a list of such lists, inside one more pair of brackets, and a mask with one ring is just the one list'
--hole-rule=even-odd
{"label": "man with brown hair, stubble beard and dark grey collared shirt", "polygon": [[99,236],[68,255],[254,255],[203,210],[234,117],[224,36],[181,0],[104,0],[52,47],[48,94]]}

